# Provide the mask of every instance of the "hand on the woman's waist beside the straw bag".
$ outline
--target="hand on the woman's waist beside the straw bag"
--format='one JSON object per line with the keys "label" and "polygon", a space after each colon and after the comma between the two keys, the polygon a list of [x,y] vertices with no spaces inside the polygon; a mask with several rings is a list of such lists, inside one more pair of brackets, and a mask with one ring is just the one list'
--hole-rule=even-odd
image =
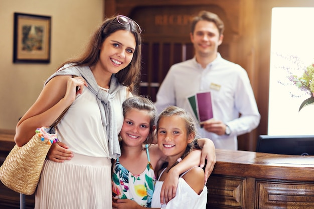
{"label": "hand on the woman's waist beside the straw bag", "polygon": [[73,152],[68,150],[68,148],[69,147],[65,143],[53,143],[48,151],[47,159],[54,162],[64,162],[64,160],[71,160],[73,157]]}

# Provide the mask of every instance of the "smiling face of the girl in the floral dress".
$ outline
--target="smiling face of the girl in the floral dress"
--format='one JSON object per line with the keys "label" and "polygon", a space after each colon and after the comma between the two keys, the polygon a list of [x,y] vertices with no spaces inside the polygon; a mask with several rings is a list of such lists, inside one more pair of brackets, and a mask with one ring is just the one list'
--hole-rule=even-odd
{"label": "smiling face of the girl in the floral dress", "polygon": [[124,115],[120,136],[123,146],[141,145],[149,134],[150,115],[147,110],[130,109]]}

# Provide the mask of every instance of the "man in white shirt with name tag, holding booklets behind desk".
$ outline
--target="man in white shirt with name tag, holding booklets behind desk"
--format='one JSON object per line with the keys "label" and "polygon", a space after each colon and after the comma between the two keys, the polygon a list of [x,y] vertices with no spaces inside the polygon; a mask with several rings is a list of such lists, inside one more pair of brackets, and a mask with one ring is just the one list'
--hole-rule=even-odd
{"label": "man in white shirt with name tag, holding booklets behind desk", "polygon": [[155,105],[159,112],[176,105],[194,116],[187,97],[210,91],[214,119],[198,128],[199,135],[212,139],[216,148],[237,150],[237,136],[256,128],[260,114],[246,71],[218,53],[223,31],[216,14],[202,11],[194,17],[190,37],[195,57],[170,68]]}

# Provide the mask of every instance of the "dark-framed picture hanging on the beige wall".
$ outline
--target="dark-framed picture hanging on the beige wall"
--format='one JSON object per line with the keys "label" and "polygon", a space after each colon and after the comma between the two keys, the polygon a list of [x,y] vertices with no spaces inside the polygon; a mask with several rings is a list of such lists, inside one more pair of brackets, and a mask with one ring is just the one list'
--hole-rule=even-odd
{"label": "dark-framed picture hanging on the beige wall", "polygon": [[14,13],[14,63],[50,63],[51,17]]}

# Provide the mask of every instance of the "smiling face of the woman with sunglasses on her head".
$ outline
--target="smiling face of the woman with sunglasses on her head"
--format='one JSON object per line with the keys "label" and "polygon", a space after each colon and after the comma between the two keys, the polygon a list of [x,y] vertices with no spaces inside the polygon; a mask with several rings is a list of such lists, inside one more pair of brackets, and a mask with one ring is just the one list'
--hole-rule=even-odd
{"label": "smiling face of the woman with sunglasses on her head", "polygon": [[131,32],[116,31],[102,43],[96,66],[110,74],[116,74],[130,64],[135,48],[135,37]]}

